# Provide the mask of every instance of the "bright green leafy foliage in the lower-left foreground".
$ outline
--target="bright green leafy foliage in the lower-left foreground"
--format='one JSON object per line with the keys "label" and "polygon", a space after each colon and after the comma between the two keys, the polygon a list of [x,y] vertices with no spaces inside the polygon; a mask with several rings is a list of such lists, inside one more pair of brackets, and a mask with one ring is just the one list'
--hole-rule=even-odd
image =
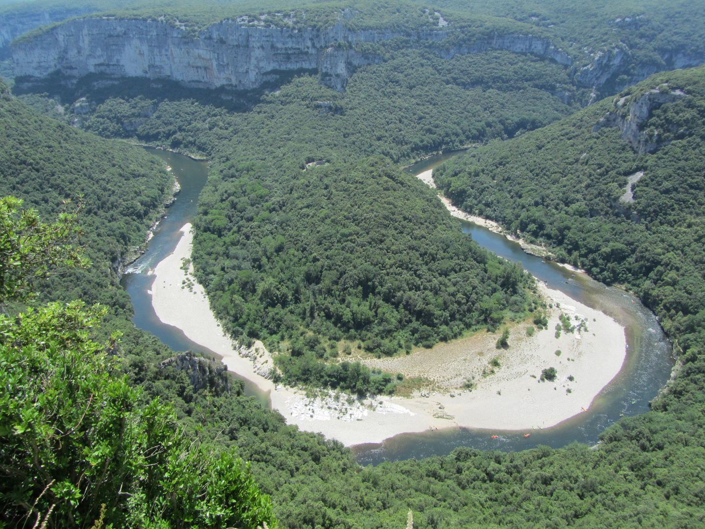
{"label": "bright green leafy foliage in the lower-left foreground", "polygon": [[[26,297],[28,277],[85,265],[67,244],[75,217],[42,224],[3,205],[0,301]],[[22,241],[30,244],[21,245]],[[70,242],[70,241],[69,241]],[[13,248],[15,250],[13,250]],[[14,263],[20,263],[12,268]],[[23,275],[24,274],[24,275]],[[140,405],[119,375],[118,333],[94,341],[106,310],[81,301],[0,315],[0,505],[11,526],[238,527],[276,525],[269,498],[230,452],[189,439],[171,405]]]}

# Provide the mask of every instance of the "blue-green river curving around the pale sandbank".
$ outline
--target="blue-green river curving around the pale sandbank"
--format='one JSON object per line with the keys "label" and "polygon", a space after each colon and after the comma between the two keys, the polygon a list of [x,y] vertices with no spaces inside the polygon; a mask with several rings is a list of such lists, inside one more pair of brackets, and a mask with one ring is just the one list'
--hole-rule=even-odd
{"label": "blue-green river curving around the pale sandbank", "polygon": [[[121,281],[135,307],[133,321],[137,327],[159,337],[174,351],[191,350],[217,357],[213,351],[186,338],[180,329],[161,323],[154,314],[152,296],[147,293],[154,281],[153,276],[147,275],[147,272],[173,252],[180,238],[179,229],[195,217],[198,195],[207,181],[207,162],[198,162],[182,154],[164,150],[149,151],[172,167],[180,183],[181,193],[173,206],[167,210],[166,219],[157,227],[147,252],[130,266]],[[412,174],[422,173],[455,154],[457,153],[440,154],[425,159],[408,167],[407,171]],[[518,243],[482,226],[463,221],[462,231],[496,255],[522,262],[525,269],[540,281],[545,281],[548,287],[560,290],[591,308],[602,310],[623,324],[629,345],[625,365],[613,382],[596,397],[588,413],[576,415],[555,427],[532,432],[528,439],[523,437],[523,432],[497,430],[492,430],[492,434],[498,434],[500,439],[490,439],[491,434],[487,430],[470,428],[400,434],[382,444],[353,447],[361,464],[441,456],[449,454],[458,446],[517,451],[539,444],[554,448],[575,441],[594,444],[598,435],[620,417],[649,411],[649,401],[654,399],[670,377],[673,358],[670,355],[668,339],[658,326],[656,317],[635,296],[619,288],[607,287],[593,281],[584,274],[571,272],[554,262],[544,262],[540,257],[524,253]],[[264,405],[269,406],[269,397],[249,380],[243,380],[245,393],[256,396]]]}

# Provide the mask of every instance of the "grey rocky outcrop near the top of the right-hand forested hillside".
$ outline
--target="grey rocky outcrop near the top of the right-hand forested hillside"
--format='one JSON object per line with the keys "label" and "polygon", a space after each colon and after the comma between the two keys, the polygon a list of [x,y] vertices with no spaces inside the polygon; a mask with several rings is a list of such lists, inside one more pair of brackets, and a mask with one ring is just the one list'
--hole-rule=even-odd
{"label": "grey rocky outcrop near the top of the right-hand forested hillside", "polygon": [[654,108],[664,103],[673,103],[684,97],[687,95],[682,90],[670,90],[667,85],[662,85],[659,89],[647,90],[639,97],[627,96],[615,99],[614,109],[601,118],[592,131],[596,133],[604,127],[618,127],[622,139],[636,152],[640,154],[653,152],[663,145],[663,142],[661,142],[658,130],[642,130],[644,122],[649,118]]}

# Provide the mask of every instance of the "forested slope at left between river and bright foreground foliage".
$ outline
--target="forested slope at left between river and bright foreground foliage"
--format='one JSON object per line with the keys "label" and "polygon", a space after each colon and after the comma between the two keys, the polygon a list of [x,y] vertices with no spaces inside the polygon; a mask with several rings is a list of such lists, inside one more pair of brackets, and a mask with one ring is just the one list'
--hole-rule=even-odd
{"label": "forested slope at left between river and bright foreground foliage", "polygon": [[0,195],[22,198],[45,218],[56,217],[68,201],[82,205],[82,243],[94,262],[38,285],[41,299],[100,302],[129,315],[118,274],[130,255],[139,255],[171,197],[173,177],[144,150],[40,116],[4,85],[0,90]]}

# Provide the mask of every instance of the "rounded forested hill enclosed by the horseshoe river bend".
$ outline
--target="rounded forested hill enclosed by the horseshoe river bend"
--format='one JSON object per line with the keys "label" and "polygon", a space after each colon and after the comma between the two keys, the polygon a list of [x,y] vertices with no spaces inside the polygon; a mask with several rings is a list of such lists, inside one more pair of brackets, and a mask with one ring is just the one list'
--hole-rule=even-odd
{"label": "rounded forested hill enclosed by the horseshoe river bend", "polygon": [[[232,336],[273,351],[288,341],[292,357],[322,357],[319,336],[393,355],[496,329],[505,311],[523,317],[532,285],[521,267],[479,248],[430,190],[386,165],[228,163],[209,180],[193,262]],[[286,382],[315,382],[289,362]]]}

